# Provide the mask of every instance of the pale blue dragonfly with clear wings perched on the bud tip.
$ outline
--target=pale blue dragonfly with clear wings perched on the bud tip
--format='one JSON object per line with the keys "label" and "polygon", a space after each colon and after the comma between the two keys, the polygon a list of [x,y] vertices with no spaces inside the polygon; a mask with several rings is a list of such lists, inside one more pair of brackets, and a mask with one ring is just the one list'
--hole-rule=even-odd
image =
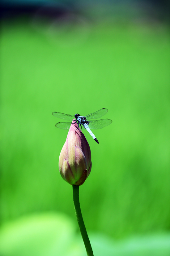
{"label": "pale blue dragonfly with clear wings perched on the bud tip", "polygon": [[[103,117],[107,112],[108,112],[107,108],[101,108],[100,110],[94,113],[88,114],[85,117],[80,116],[79,114],[67,115],[60,112],[53,112],[52,115],[54,117],[58,117],[58,118],[69,120],[69,121],[72,121],[75,118],[74,123],[78,124],[77,129],[79,129],[79,125],[81,127],[81,130],[86,129],[90,133],[92,138],[99,144],[98,140],[96,139],[95,135],[92,133],[91,129],[101,129],[105,126],[110,125],[112,123],[112,120],[107,118],[107,119],[99,119],[99,120],[91,121],[91,119],[97,119],[97,118]],[[60,129],[69,130],[70,125],[71,125],[71,122],[59,122],[55,126]]]}

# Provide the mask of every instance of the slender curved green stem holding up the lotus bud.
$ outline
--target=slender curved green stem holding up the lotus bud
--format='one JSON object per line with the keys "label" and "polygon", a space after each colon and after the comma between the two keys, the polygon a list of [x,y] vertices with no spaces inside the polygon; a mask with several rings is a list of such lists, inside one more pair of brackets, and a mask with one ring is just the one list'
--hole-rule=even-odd
{"label": "slender curved green stem holding up the lotus bud", "polygon": [[79,202],[79,186],[73,185],[73,201],[74,201],[74,209],[75,214],[77,217],[77,221],[79,224],[79,229],[83,238],[83,242],[86,248],[86,252],[88,256],[94,256],[93,250],[91,248],[90,240],[87,235],[86,227],[84,225],[81,209],[80,209],[80,202]]}

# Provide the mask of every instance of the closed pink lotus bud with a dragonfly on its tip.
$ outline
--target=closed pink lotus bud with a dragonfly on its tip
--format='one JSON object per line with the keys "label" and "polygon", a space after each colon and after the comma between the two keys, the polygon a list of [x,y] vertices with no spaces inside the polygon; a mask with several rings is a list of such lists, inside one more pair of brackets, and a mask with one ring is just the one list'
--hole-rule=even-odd
{"label": "closed pink lotus bud with a dragonfly on its tip", "polygon": [[[91,171],[91,151],[77,123],[70,126],[66,142],[59,157],[62,178],[71,185],[82,185]],[[77,129],[78,128],[78,129]]]}

